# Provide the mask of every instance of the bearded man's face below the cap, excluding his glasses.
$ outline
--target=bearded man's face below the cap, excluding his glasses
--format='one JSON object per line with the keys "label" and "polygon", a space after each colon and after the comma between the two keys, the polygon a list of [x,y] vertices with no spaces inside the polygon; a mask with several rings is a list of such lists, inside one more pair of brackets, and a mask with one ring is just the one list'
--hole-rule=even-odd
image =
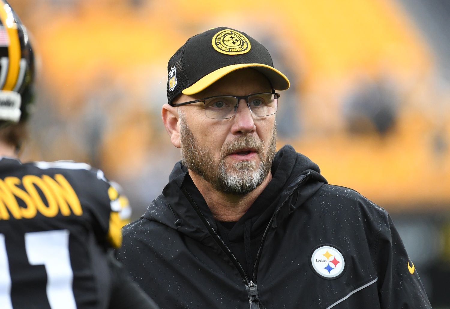
{"label": "bearded man's face below the cap, excluding his glasses", "polygon": [[[174,103],[214,95],[271,92],[261,73],[243,69],[225,76],[194,96],[181,95]],[[257,188],[270,171],[276,151],[275,115],[253,116],[241,100],[233,117],[211,119],[203,103],[179,108],[181,156],[185,166],[217,191],[246,194]]]}

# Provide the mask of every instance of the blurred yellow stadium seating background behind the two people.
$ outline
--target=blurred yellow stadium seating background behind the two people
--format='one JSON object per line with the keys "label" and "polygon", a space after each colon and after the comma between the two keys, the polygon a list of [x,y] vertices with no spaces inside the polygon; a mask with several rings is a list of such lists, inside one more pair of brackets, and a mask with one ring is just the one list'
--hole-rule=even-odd
{"label": "blurred yellow stadium seating background behind the two people", "polygon": [[168,58],[208,28],[241,29],[292,82],[279,147],[386,208],[433,307],[450,307],[448,0],[9,2],[40,56],[23,161],[89,162],[138,218],[179,159],[160,121]]}

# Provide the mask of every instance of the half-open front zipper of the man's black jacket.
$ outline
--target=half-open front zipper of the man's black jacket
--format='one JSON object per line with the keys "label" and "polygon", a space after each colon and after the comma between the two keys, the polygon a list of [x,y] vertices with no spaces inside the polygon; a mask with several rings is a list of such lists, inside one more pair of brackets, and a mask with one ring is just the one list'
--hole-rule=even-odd
{"label": "half-open front zipper of the man's black jacket", "polygon": [[186,193],[189,196],[189,199],[191,200],[192,204],[195,206],[195,208],[197,210],[197,213],[201,215],[202,221],[207,224],[207,228],[208,228],[209,232],[213,235],[213,237],[215,237],[217,240],[220,241],[220,243],[228,251],[229,255],[233,258],[232,262],[234,263],[234,265],[238,266],[237,269],[238,269],[239,273],[241,274],[241,278],[243,279],[243,282],[244,282],[244,285],[245,285],[245,289],[247,290],[247,292],[249,294],[248,297],[249,297],[249,301],[250,301],[250,309],[259,309],[260,308],[260,306],[258,304],[259,296],[258,296],[257,281],[256,281],[256,278],[257,278],[257,266],[258,266],[258,263],[259,263],[259,257],[260,257],[260,254],[261,254],[261,249],[262,249],[262,246],[264,245],[264,241],[266,239],[267,232],[269,231],[270,224],[272,224],[273,220],[275,219],[275,216],[278,214],[278,212],[281,209],[281,207],[283,207],[283,205],[294,194],[294,192],[297,191],[297,189],[300,187],[300,185],[309,177],[309,175],[311,175],[311,173],[306,174],[302,178],[302,180],[299,181],[299,183],[294,188],[292,193],[289,194],[288,197],[286,197],[286,199],[284,200],[284,202],[280,206],[278,206],[278,208],[275,210],[274,214],[270,218],[269,224],[267,224],[266,230],[264,231],[264,234],[262,235],[261,243],[259,245],[258,252],[257,252],[257,255],[256,255],[255,265],[254,265],[254,268],[253,268],[253,280],[248,280],[247,274],[245,273],[245,271],[244,271],[242,265],[239,263],[238,259],[236,259],[236,257],[234,256],[233,252],[231,252],[231,250],[229,250],[229,247],[225,244],[225,242],[222,240],[222,238],[220,238],[219,234],[217,234],[217,232],[214,230],[214,228],[212,228],[211,223],[209,223],[209,221],[206,219],[205,215],[203,215],[203,213],[200,210],[200,208],[198,208],[197,204],[195,203],[195,201],[193,200],[193,198],[191,197],[189,192],[186,189],[183,188],[184,193]]}

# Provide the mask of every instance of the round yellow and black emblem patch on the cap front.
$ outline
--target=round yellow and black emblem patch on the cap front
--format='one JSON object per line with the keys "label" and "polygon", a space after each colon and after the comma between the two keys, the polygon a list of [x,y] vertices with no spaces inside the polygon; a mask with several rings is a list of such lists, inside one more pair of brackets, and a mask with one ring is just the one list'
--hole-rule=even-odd
{"label": "round yellow and black emblem patch on the cap front", "polygon": [[245,54],[250,50],[250,42],[240,32],[225,29],[212,37],[212,47],[226,55]]}

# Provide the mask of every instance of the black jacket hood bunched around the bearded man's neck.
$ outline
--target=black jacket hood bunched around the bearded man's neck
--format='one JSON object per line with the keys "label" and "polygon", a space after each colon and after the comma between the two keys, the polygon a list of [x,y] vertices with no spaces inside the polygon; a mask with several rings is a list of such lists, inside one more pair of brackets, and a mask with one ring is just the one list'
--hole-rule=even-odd
{"label": "black jacket hood bunched around the bearded man's neck", "polygon": [[[276,153],[271,173],[272,180],[247,210],[247,213],[239,219],[237,226],[240,225],[240,222],[252,217],[255,222],[252,227],[252,233],[258,233],[261,231],[261,228],[265,227],[264,224],[273,214],[276,206],[285,201],[284,209],[279,212],[273,223],[275,225],[279,224],[282,219],[295,210],[294,205],[301,205],[322,184],[327,183],[326,179],[320,175],[319,166],[306,156],[297,153],[291,145],[284,146]],[[199,214],[189,201],[193,199],[186,190],[189,184],[198,193],[193,194],[193,196],[198,196],[200,193],[193,185],[188,169],[179,161],[169,175],[169,183],[163,189],[162,194],[148,206],[141,218],[159,222],[203,242],[214,241]],[[298,193],[293,194],[297,190]],[[189,199],[186,195],[189,196]],[[198,202],[196,204],[207,219],[207,222],[216,229],[216,222],[211,211],[201,195],[199,196],[200,198],[197,198]],[[295,198],[297,202],[287,203],[289,198]],[[241,228],[235,228],[233,234],[236,234],[236,237],[238,237],[241,232]],[[230,239],[232,238],[233,235],[230,235]]]}

